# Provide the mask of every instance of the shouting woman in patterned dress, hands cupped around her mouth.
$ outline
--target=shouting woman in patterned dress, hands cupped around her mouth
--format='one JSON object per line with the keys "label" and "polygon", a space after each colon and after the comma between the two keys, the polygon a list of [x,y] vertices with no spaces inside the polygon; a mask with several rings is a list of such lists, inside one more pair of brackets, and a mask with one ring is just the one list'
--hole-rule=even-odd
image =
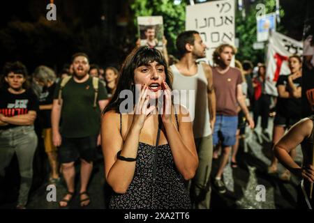
{"label": "shouting woman in patterned dress, hands cupped around her mouth", "polygon": [[[127,108],[120,97],[126,90],[133,95]],[[170,72],[157,49],[137,47],[128,55],[103,114],[110,208],[190,208],[184,180],[198,164],[192,124],[188,111],[172,103]]]}

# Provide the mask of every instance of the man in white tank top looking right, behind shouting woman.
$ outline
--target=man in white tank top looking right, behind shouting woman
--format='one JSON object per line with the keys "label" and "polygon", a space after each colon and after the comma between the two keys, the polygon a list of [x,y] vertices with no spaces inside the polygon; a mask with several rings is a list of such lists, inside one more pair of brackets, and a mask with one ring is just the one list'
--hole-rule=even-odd
{"label": "man in white tank top looking right, behind shouting woman", "polygon": [[206,48],[197,31],[181,33],[177,38],[181,59],[170,67],[174,77],[172,89],[174,93],[179,93],[180,104],[188,109],[193,120],[199,166],[191,181],[190,197],[193,208],[199,209],[209,209],[210,204],[209,178],[213,155],[211,133],[216,119],[216,96],[211,68],[207,64],[196,63],[197,59],[205,57]]}

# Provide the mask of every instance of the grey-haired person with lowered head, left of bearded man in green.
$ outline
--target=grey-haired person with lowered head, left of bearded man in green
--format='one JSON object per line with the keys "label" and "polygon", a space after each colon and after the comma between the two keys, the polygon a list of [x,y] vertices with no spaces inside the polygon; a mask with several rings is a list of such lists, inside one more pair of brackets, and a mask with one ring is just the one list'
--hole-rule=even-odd
{"label": "grey-haired person with lowered head, left of bearded man in green", "polygon": [[38,66],[33,72],[33,79],[39,86],[43,87],[43,91],[39,94],[39,120],[43,128],[43,139],[45,144],[45,152],[51,167],[49,181],[50,183],[58,183],[59,164],[57,161],[57,147],[52,144],[52,127],[51,127],[51,111],[54,89],[56,88],[56,75],[51,68],[46,66]]}

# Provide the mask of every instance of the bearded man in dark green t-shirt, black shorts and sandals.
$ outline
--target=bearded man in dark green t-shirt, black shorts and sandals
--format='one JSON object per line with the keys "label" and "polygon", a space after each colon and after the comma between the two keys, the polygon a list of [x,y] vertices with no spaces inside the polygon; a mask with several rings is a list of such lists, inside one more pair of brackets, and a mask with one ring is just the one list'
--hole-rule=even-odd
{"label": "bearded man in dark green t-shirt, black shorts and sandals", "polygon": [[[52,107],[52,140],[54,146],[59,147],[59,161],[68,189],[59,202],[61,207],[68,206],[73,199],[74,162],[79,157],[80,205],[87,206],[91,201],[87,184],[96,159],[96,147],[100,145],[100,111],[107,104],[105,87],[99,79],[89,76],[89,57],[84,53],[74,54],[72,66],[73,77],[58,84]],[[98,86],[97,89],[95,86]]]}

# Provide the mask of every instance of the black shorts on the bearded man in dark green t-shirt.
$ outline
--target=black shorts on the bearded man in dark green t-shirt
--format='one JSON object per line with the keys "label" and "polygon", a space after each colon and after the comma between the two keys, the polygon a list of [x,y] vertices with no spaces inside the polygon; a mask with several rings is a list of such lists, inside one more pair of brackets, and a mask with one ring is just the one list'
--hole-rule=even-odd
{"label": "black shorts on the bearded man in dark green t-shirt", "polygon": [[79,157],[87,162],[93,162],[97,157],[97,137],[98,135],[80,138],[62,137],[58,149],[59,162],[74,162]]}

